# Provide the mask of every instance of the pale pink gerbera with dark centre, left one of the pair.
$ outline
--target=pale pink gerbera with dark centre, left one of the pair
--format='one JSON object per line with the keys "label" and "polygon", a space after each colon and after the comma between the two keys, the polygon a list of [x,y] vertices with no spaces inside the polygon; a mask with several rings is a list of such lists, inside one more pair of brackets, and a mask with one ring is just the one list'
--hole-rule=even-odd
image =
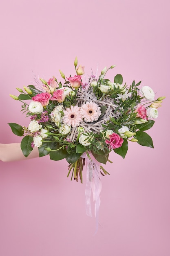
{"label": "pale pink gerbera with dark centre, left one of the pair", "polygon": [[82,121],[82,115],[78,106],[71,106],[70,108],[66,108],[63,112],[63,121],[69,126],[76,127],[79,125],[79,122]]}

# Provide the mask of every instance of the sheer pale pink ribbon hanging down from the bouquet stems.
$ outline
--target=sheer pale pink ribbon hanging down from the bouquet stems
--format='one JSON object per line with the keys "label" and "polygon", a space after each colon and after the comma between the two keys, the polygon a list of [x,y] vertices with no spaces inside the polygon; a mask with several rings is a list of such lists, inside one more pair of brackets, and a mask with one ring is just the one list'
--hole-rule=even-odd
{"label": "sheer pale pink ribbon hanging down from the bouquet stems", "polygon": [[96,218],[96,230],[98,230],[99,225],[99,207],[100,207],[100,192],[102,190],[102,181],[100,177],[100,165],[95,157],[89,153],[89,157],[86,153],[83,153],[82,158],[85,158],[86,162],[86,190],[85,190],[85,205],[86,214],[92,217],[91,212],[91,191],[93,192],[93,201],[95,201],[95,218]]}

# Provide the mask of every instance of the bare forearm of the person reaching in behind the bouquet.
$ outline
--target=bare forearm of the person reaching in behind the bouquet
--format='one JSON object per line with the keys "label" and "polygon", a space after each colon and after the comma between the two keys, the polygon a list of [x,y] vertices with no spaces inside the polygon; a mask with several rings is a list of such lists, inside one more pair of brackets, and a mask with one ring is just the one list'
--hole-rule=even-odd
{"label": "bare forearm of the person reaching in behind the bouquet", "polygon": [[24,157],[20,148],[20,143],[0,144],[0,160],[3,162],[12,162],[39,157],[38,148],[33,148],[28,157]]}

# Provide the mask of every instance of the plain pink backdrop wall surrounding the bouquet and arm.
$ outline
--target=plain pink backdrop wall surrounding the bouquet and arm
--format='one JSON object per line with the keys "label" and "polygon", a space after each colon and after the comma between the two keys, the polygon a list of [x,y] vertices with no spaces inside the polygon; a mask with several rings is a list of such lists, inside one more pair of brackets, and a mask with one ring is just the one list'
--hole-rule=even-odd
{"label": "plain pink backdrop wall surrounding the bouquet and arm", "polygon": [[18,95],[33,82],[74,74],[73,61],[142,80],[166,96],[148,133],[154,149],[129,144],[126,159],[111,154],[102,177],[101,207],[85,213],[84,184],[67,178],[65,160],[49,156],[0,162],[1,256],[169,256],[169,1],[6,0],[0,6],[0,142],[20,142],[7,123],[27,125]]}

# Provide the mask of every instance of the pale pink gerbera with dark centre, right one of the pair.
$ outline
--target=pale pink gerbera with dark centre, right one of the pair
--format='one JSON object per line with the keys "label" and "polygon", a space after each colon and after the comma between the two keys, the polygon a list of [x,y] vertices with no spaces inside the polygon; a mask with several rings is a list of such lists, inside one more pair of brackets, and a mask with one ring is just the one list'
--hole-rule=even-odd
{"label": "pale pink gerbera with dark centre, right one of the pair", "polygon": [[82,105],[80,112],[85,122],[93,122],[99,119],[101,115],[100,107],[95,102],[86,102]]}

